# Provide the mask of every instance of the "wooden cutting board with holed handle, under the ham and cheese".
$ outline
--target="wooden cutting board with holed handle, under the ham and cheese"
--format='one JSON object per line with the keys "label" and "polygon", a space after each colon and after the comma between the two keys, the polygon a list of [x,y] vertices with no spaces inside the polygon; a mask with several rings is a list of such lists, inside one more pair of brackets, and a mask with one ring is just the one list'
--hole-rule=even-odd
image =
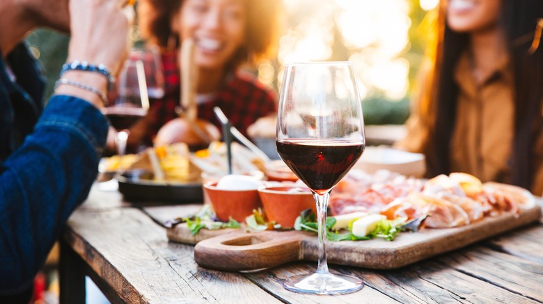
{"label": "wooden cutting board with holed handle, under the ham and cheese", "polygon": [[[540,217],[541,208],[535,205],[520,214],[488,217],[467,226],[400,233],[392,242],[384,239],[327,242],[326,256],[332,264],[395,269],[524,226]],[[196,244],[194,260],[211,269],[255,270],[318,259],[317,237],[304,231],[246,233],[242,229],[202,229],[193,236],[186,225],[180,224],[169,228],[167,235],[173,242]]]}

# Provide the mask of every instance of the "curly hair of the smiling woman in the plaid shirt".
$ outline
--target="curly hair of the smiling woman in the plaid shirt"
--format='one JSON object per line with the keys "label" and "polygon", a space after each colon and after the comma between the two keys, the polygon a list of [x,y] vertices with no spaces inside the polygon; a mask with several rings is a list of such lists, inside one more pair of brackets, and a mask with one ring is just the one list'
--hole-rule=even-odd
{"label": "curly hair of the smiling woman in the plaid shirt", "polygon": [[[143,0],[150,4],[152,18],[147,24],[140,24],[143,37],[162,48],[178,48],[180,42],[177,35],[173,39],[171,19],[178,12],[184,0]],[[245,0],[246,28],[245,43],[240,47],[233,60],[229,62],[230,68],[235,68],[244,62],[254,63],[261,58],[273,56],[276,52],[280,31],[280,15],[282,12],[279,0]],[[146,12],[140,12],[146,13]]]}

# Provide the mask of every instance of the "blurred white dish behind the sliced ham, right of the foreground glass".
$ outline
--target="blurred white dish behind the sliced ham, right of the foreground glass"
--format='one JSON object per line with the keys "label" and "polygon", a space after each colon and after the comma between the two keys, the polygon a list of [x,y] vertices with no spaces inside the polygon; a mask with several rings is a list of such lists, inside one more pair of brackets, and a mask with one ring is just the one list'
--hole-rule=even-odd
{"label": "blurred white dish behind the sliced ham, right of the foreground glass", "polygon": [[426,172],[423,154],[411,153],[392,149],[388,146],[368,146],[354,168],[361,169],[368,174],[386,169],[404,176],[421,178]]}

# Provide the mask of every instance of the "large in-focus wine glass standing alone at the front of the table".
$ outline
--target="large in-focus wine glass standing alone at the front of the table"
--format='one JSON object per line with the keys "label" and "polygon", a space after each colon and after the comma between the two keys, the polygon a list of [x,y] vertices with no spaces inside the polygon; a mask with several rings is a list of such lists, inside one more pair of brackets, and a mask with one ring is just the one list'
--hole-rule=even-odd
{"label": "large in-focus wine glass standing alone at the front of the table", "polygon": [[286,65],[276,136],[278,154],[313,192],[319,239],[316,273],[287,278],[283,286],[311,294],[343,294],[361,289],[361,279],[331,274],[326,264],[325,223],[330,192],[365,149],[361,100],[352,64]]}

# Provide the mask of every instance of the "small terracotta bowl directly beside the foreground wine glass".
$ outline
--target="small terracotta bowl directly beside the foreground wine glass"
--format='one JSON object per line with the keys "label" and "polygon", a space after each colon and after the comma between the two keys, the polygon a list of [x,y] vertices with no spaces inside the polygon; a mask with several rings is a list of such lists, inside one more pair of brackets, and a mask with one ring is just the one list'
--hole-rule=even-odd
{"label": "small terracotta bowl directly beside the foreground wine glass", "polygon": [[293,228],[300,212],[312,209],[317,212],[310,190],[303,187],[260,187],[258,194],[269,221],[276,221],[285,228]]}

